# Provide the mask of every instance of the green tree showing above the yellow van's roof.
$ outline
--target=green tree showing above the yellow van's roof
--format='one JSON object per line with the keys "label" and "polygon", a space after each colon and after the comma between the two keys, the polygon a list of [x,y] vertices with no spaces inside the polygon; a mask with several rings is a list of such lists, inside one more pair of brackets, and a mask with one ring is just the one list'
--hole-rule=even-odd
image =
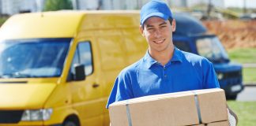
{"label": "green tree showing above the yellow van's roof", "polygon": [[73,9],[70,0],[46,0],[44,11],[55,11],[60,9]]}

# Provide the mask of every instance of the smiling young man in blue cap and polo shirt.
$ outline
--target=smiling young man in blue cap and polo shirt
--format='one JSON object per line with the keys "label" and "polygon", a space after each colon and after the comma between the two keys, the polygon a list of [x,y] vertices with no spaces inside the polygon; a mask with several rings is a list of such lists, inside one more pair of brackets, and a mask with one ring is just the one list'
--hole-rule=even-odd
{"label": "smiling young man in blue cap and polo shirt", "polygon": [[145,95],[220,87],[211,62],[173,45],[175,25],[165,2],[152,0],[141,8],[140,31],[149,50],[119,73],[107,108],[113,102]]}

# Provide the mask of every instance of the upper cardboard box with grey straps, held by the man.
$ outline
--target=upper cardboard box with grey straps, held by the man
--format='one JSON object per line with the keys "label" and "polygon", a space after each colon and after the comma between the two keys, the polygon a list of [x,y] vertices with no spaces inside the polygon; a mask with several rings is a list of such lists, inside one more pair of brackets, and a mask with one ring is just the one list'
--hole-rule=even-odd
{"label": "upper cardboard box with grey straps, held by the man", "polygon": [[219,88],[115,102],[109,106],[109,114],[112,126],[193,125],[228,120],[224,90]]}

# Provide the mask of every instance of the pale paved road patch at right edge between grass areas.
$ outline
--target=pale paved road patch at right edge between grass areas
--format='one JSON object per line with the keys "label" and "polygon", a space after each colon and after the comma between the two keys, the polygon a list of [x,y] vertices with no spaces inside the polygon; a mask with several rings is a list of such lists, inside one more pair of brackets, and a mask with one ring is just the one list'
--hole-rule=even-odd
{"label": "pale paved road patch at right edge between grass areas", "polygon": [[256,101],[256,85],[247,86],[244,90],[239,93],[236,98],[237,101]]}

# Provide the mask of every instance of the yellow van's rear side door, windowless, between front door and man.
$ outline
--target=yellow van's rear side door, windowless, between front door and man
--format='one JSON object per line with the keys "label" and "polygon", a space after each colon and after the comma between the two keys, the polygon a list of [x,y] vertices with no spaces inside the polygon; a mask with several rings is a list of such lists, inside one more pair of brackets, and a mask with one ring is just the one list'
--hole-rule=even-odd
{"label": "yellow van's rear side door, windowless, between front door and man", "polygon": [[107,99],[115,83],[115,78],[118,76],[119,72],[128,65],[129,57],[125,57],[126,51],[123,36],[119,29],[98,30],[96,33],[98,50],[100,50],[100,79],[104,80],[104,125],[109,125],[108,110],[105,108]]}

